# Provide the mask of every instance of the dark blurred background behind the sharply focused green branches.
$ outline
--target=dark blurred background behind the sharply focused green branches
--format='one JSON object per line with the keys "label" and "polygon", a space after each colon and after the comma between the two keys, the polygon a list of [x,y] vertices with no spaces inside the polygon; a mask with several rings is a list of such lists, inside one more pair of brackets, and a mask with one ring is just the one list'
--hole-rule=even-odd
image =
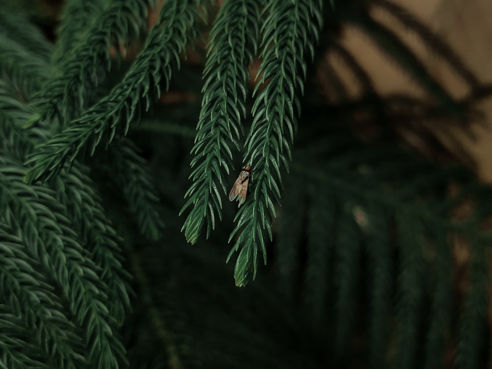
{"label": "dark blurred background behind the sharply focused green branches", "polygon": [[[121,191],[115,157],[84,159],[133,276],[119,330],[130,368],[492,368],[492,2],[347,0],[333,12],[325,2],[268,263],[259,256],[246,287],[234,285],[236,254],[225,263],[236,203],[224,197],[222,222],[193,246],[182,233],[186,214],[178,216],[191,185],[206,40],[128,134],[145,161],[125,159],[148,168],[162,237],[142,236],[127,206],[139,182]],[[57,41],[63,1],[12,4]],[[352,13],[368,14],[388,38]],[[111,46],[112,68],[91,102],[144,47],[143,39]],[[260,63],[249,67],[250,90]],[[440,105],[448,95],[453,103]],[[240,156],[228,189],[246,164]]]}

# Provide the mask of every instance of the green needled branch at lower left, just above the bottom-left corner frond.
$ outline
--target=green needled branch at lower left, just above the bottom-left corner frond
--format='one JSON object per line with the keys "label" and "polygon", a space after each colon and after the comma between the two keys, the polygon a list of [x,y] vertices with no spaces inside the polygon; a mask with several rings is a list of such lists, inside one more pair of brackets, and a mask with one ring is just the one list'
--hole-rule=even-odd
{"label": "green needled branch at lower left, just above the bottom-left corner frond", "polygon": [[81,347],[82,339],[63,313],[53,288],[36,271],[38,263],[24,252],[22,240],[12,236],[13,233],[10,227],[0,223],[1,300],[9,302],[10,312],[23,317],[30,335],[45,350],[51,365],[78,368],[82,356],[74,347]]}

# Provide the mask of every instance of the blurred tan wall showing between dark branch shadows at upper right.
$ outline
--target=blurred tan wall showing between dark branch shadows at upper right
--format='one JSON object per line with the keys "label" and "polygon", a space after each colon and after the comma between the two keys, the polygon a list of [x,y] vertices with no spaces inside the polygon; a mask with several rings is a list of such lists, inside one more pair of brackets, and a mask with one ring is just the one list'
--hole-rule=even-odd
{"label": "blurred tan wall showing between dark branch shadows at upper right", "polygon": [[[395,0],[418,19],[430,26],[446,40],[465,64],[483,82],[492,82],[492,1],[490,0]],[[451,89],[455,97],[464,97],[468,92],[464,84],[423,47],[419,38],[403,29],[391,15],[375,9],[373,16],[397,31],[422,60],[430,65],[432,75]],[[387,60],[360,31],[348,28],[344,43],[350,51],[362,60],[363,66],[373,77],[379,92],[420,93],[418,85],[410,77]],[[359,60],[361,60],[359,59]],[[354,89],[356,89],[354,87]],[[357,92],[354,91],[354,94]],[[492,99],[480,105],[486,114],[489,126],[492,120]],[[477,174],[492,184],[492,129],[476,127],[476,140],[472,141],[462,132],[457,137],[466,151],[476,160]]]}

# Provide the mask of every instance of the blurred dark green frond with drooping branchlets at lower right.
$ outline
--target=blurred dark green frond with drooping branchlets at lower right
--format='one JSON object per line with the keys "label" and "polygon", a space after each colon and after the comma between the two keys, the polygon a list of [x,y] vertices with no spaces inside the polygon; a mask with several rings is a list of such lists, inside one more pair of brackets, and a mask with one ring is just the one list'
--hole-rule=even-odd
{"label": "blurred dark green frond with drooping branchlets at lower right", "polygon": [[[447,242],[450,236],[460,237],[472,245],[470,291],[461,314],[457,364],[460,368],[476,367],[481,355],[485,354],[486,347],[484,327],[490,260],[486,245],[490,243],[492,235],[483,227],[492,214],[490,188],[478,184],[465,170],[436,168],[403,151],[397,154],[387,145],[359,143],[357,148],[354,142],[350,143],[333,132],[329,139],[321,138],[318,141],[319,143],[310,141],[305,151],[297,153],[304,159],[301,164],[292,165],[292,175],[301,176],[307,183],[319,181],[317,185],[325,191],[337,193],[333,200],[335,204],[326,210],[330,214],[333,214],[334,206],[348,206],[346,199],[353,199],[355,204],[360,204],[356,208],[360,208],[361,212],[354,213],[353,216],[363,230],[364,243],[369,250],[371,367],[379,368],[387,364],[386,347],[390,342],[395,343],[391,348],[396,353],[392,360],[395,368],[415,368],[421,364],[425,364],[426,368],[433,368],[442,365],[445,339],[451,330],[450,299],[453,279],[450,273],[453,258],[451,245]],[[310,162],[315,162],[314,157],[318,160],[329,157],[330,160],[315,168],[309,166]],[[446,195],[449,184],[459,184],[456,195]],[[479,200],[470,209],[470,214],[462,219],[453,219],[451,215],[457,206],[471,199]],[[393,239],[392,217],[397,219],[396,239]],[[326,228],[331,224],[316,219],[313,222],[319,228],[325,227],[325,234]],[[344,230],[340,226],[337,229],[339,237],[354,238],[354,230]],[[319,236],[313,234],[312,237]],[[345,246],[340,241],[337,244],[337,247],[344,250],[343,254],[352,254],[359,247],[355,241],[345,242]],[[396,284],[396,316],[391,309],[392,280],[395,278],[393,244],[398,247],[400,257]],[[307,261],[313,260],[310,252],[307,251]],[[434,252],[435,256],[430,258],[429,254]],[[349,276],[353,276],[359,269],[356,262],[343,263],[343,254],[337,255],[337,269],[333,276],[339,285],[353,281],[353,277]],[[424,271],[426,265],[430,270],[435,270],[435,277],[429,276],[427,270]],[[307,264],[306,270],[309,268],[314,266]],[[425,318],[425,277],[431,281],[431,319]],[[342,297],[343,294],[341,297],[337,295],[337,301]],[[354,306],[357,304],[343,304],[338,311],[348,314]],[[392,318],[396,324],[395,340],[391,336],[388,338]],[[347,320],[346,316],[338,315],[338,324],[345,325]],[[425,332],[422,330],[424,327]],[[344,337],[352,331],[345,331],[348,333]],[[425,338],[425,346],[422,345],[422,338]],[[337,344],[342,341],[340,337],[336,339]],[[425,356],[419,359],[421,350]]]}

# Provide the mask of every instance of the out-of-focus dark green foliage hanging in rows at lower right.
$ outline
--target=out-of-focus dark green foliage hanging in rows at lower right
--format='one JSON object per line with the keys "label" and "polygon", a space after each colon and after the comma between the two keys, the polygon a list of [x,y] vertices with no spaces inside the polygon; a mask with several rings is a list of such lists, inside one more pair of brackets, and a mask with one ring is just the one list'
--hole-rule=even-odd
{"label": "out-of-focus dark green foliage hanging in rows at lower right", "polygon": [[[452,221],[450,215],[471,194],[479,191],[480,198],[484,201],[485,197],[491,195],[490,191],[487,189],[486,194],[479,190],[473,181],[466,179],[465,173],[459,168],[435,171],[432,166],[419,163],[389,147],[355,145],[356,141],[347,141],[347,136],[344,135],[334,135],[331,140],[324,139],[323,142],[319,146],[314,143],[306,152],[298,154],[302,161],[300,164],[297,164],[297,160],[294,161],[291,175],[302,176],[313,183],[314,188],[325,188],[328,194],[338,194],[332,200],[334,204],[324,208],[326,215],[323,215],[323,208],[318,210],[321,213],[315,213],[317,218],[325,219],[320,223],[324,225],[319,228],[320,234],[333,230],[332,236],[325,238],[326,247],[330,251],[325,250],[322,257],[311,258],[309,255],[315,249],[306,249],[306,281],[312,280],[311,260],[316,260],[314,265],[325,265],[325,269],[327,265],[335,266],[335,270],[330,273],[332,286],[317,285],[325,293],[332,291],[328,296],[332,296],[336,336],[331,355],[334,355],[334,359],[338,358],[337,360],[347,360],[346,350],[351,346],[354,329],[359,324],[357,307],[361,304],[358,302],[361,293],[357,292],[357,283],[364,281],[364,277],[361,277],[367,273],[369,279],[362,283],[366,283],[369,288],[367,350],[371,367],[392,364],[395,368],[417,368],[423,363],[429,368],[441,366],[448,337],[453,329],[450,316],[455,311],[451,301],[453,260],[444,229],[448,229],[449,234],[461,235],[471,245],[480,242],[475,241],[473,234],[467,233],[464,223]],[[353,154],[355,152],[357,154]],[[308,155],[305,156],[306,154]],[[308,163],[313,160],[312,155],[319,157],[320,154],[329,154],[332,164],[321,168],[309,166]],[[459,183],[462,189],[452,199],[443,200],[443,184],[450,178],[454,178],[454,183]],[[401,186],[401,183],[405,183],[405,186]],[[381,189],[384,189],[383,196]],[[410,198],[414,200],[410,201]],[[297,199],[297,209],[302,212],[302,196]],[[307,214],[312,211],[311,207],[316,209],[318,205],[310,205]],[[489,209],[488,206],[484,207]],[[466,218],[467,224],[483,222],[482,215],[487,212],[482,206],[477,206]],[[337,220],[333,219],[332,214],[335,214]],[[297,216],[302,218],[304,215],[297,213]],[[308,229],[315,230],[312,227]],[[283,231],[283,228],[279,230]],[[285,231],[290,232],[288,229]],[[364,239],[361,239],[361,235]],[[330,246],[334,242],[333,237],[337,237],[336,250]],[[486,233],[481,234],[479,239],[490,242],[490,237]],[[282,240],[282,237],[278,236],[277,240]],[[366,244],[368,264],[360,262],[361,243]],[[279,248],[281,246],[282,244],[278,245]],[[481,250],[488,252],[488,247]],[[335,260],[331,261],[333,258]],[[467,368],[474,367],[472,358],[485,358],[486,320],[480,314],[485,313],[488,299],[484,290],[478,291],[488,285],[486,276],[489,262],[484,256],[474,260],[476,263],[481,262],[481,267],[470,264],[470,268],[476,273],[470,283],[475,287],[470,286],[470,294],[465,298],[465,310],[460,322],[460,332],[463,334],[458,344],[458,350],[462,350],[462,354],[457,357],[458,363],[462,360],[461,365]],[[428,276],[428,271],[432,270],[435,275]],[[432,282],[429,286],[426,285],[428,281]],[[431,299],[430,307],[424,305],[428,299],[427,291],[431,292],[428,297]],[[326,295],[319,290],[316,294],[317,304],[324,304]],[[306,295],[306,298],[311,300],[307,307],[314,307],[307,311],[318,316],[318,307],[312,302],[313,297]],[[396,306],[392,303],[394,299],[397,301]],[[477,301],[470,303],[472,299]],[[479,310],[470,309],[470,306]],[[430,312],[429,317],[426,317],[427,311]],[[395,324],[391,324],[392,319],[395,319]],[[474,329],[477,331],[473,331]],[[465,335],[467,338],[464,338]],[[472,336],[477,339],[476,342],[468,339]],[[425,342],[425,346],[422,346],[422,342]],[[386,348],[388,345],[389,350]],[[473,352],[464,354],[465,350]]]}

